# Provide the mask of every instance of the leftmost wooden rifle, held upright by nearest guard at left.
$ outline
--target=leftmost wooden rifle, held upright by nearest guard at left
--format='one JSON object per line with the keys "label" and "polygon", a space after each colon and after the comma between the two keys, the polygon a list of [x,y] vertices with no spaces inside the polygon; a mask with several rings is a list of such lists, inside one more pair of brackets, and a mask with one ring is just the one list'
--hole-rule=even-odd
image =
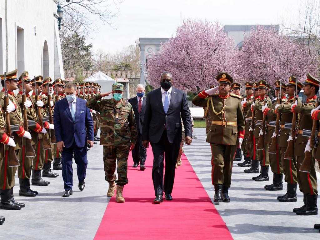
{"label": "leftmost wooden rifle, held upright by nearest guard at left", "polygon": [[[5,133],[7,134],[7,136],[9,138],[13,139],[13,136],[11,136],[11,127],[10,127],[10,113],[7,112],[7,106],[9,105],[9,96],[8,96],[8,90],[6,87],[6,73],[4,73],[4,108],[3,108],[3,112],[4,112],[4,121],[5,121]],[[14,150],[14,147],[12,146],[8,146],[8,159],[9,159],[9,167],[19,167],[20,163],[19,163],[19,159],[16,155],[16,152]]]}

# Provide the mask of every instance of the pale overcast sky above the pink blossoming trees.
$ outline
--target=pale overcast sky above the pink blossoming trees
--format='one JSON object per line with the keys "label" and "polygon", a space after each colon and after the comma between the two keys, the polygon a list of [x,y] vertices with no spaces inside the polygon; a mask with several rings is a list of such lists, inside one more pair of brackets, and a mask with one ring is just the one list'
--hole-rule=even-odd
{"label": "pale overcast sky above the pink blossoming trees", "polygon": [[139,37],[171,37],[183,19],[219,21],[222,25],[281,24],[297,19],[300,0],[124,0],[113,19],[116,29],[99,24],[93,50],[113,53]]}

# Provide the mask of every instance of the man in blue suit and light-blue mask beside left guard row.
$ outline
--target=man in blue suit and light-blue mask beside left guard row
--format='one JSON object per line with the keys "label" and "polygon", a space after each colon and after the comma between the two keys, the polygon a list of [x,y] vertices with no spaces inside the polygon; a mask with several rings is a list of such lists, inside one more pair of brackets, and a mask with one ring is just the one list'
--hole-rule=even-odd
{"label": "man in blue suit and light-blue mask beside left guard row", "polygon": [[93,146],[93,121],[86,101],[76,97],[76,84],[65,85],[66,98],[57,101],[54,106],[54,132],[57,148],[62,155],[62,178],[65,193],[63,197],[72,195],[73,171],[72,153],[77,164],[79,189],[85,186],[85,172],[88,165],[87,143]]}

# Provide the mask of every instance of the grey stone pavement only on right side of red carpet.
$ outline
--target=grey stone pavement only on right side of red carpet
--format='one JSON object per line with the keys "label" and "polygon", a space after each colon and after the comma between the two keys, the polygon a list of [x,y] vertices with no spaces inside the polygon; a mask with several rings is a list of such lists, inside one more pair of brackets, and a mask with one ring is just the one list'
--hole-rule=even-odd
{"label": "grey stone pavement only on right side of red carpet", "polygon": [[[185,154],[213,202],[210,145],[205,142],[204,128],[196,128],[193,135],[198,139],[185,147]],[[293,208],[303,205],[303,195],[299,191],[296,203],[280,203],[276,197],[285,194],[285,190],[266,191],[264,186],[271,184],[272,178],[255,182],[252,177],[258,174],[244,173],[246,168],[237,163],[233,164],[229,189],[231,202],[215,204],[234,239],[320,239],[319,231],[313,229],[315,223],[320,223],[319,215],[298,216],[292,212]],[[271,170],[269,175],[272,176]],[[318,172],[317,179],[320,186]]]}

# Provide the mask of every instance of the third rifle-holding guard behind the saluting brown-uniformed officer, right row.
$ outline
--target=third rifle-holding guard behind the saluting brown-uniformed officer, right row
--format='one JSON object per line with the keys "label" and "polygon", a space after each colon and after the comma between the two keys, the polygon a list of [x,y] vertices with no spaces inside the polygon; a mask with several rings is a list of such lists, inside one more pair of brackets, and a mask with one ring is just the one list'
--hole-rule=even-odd
{"label": "third rifle-holding guard behind the saluting brown-uniformed officer, right row", "polygon": [[[254,129],[256,126],[255,125],[256,115],[255,115],[255,111],[252,111],[251,106],[252,106],[252,104],[258,103],[260,101],[260,96],[259,96],[259,92],[258,92],[258,86],[259,86],[258,83],[253,82],[252,86],[253,86],[252,100],[242,102],[242,105],[244,108],[247,108],[247,107],[250,108],[250,112],[247,112],[247,116],[251,116],[251,120],[252,120],[250,123],[249,131],[248,131],[248,139],[247,139],[247,144],[246,144],[246,148],[247,148],[248,153],[251,158],[251,168],[245,169],[244,170],[245,173],[258,173],[259,172],[259,154],[256,149],[257,142],[256,142],[256,139],[254,138]],[[253,117],[253,119],[252,119],[252,117]],[[253,125],[252,125],[252,123],[253,123]],[[252,143],[251,144],[248,143],[250,134],[252,134]]]}

